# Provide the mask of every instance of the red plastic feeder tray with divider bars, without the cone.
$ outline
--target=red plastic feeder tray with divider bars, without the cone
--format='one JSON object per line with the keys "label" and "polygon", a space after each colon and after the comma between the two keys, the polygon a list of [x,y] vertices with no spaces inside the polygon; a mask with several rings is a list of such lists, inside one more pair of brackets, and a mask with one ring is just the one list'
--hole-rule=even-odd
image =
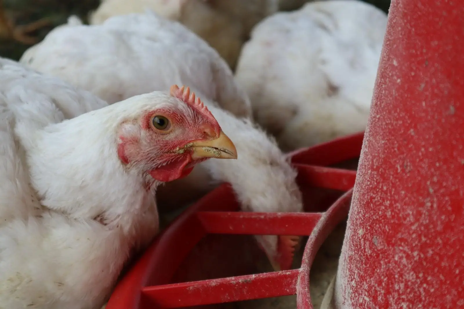
{"label": "red plastic feeder tray with divider bars, without the cone", "polygon": [[[355,170],[328,166],[357,159],[363,136],[354,134],[290,154],[307,213],[239,212],[228,184],[203,197],[123,276],[106,309],[182,308],[295,294],[298,308],[313,308],[309,269],[322,242],[348,215],[356,177]],[[311,235],[302,267],[256,273],[253,261],[263,252],[252,234]],[[219,257],[210,258],[211,254]]]}

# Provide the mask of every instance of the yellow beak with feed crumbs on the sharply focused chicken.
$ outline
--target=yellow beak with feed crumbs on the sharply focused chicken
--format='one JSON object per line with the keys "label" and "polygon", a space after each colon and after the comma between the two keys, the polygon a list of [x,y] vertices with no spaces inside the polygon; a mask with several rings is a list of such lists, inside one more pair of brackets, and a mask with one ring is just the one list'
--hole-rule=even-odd
{"label": "yellow beak with feed crumbs on the sharply focused chicken", "polygon": [[193,150],[192,158],[198,160],[200,158],[217,158],[217,159],[236,159],[237,149],[232,141],[224,132],[219,133],[217,139],[196,140],[189,143],[190,149]]}

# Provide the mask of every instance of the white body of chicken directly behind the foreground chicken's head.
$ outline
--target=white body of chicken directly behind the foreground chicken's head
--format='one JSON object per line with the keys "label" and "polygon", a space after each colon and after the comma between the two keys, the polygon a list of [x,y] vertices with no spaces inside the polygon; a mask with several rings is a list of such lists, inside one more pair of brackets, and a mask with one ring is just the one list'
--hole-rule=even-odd
{"label": "white body of chicken directly behind the foreground chicken's head", "polygon": [[116,16],[91,26],[73,17],[26,50],[20,62],[108,103],[146,93],[153,85],[152,91],[185,84],[233,114],[251,116],[248,96],[218,53],[183,25],[155,13]]}

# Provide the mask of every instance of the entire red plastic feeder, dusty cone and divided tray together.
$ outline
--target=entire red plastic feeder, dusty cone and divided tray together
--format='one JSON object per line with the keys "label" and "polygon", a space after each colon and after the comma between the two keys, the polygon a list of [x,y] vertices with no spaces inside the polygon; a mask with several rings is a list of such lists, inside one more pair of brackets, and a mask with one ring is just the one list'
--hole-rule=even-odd
{"label": "entire red plastic feeder, dusty cone and divided tray together", "polygon": [[[463,16],[460,1],[392,1],[332,308],[464,308]],[[362,139],[291,154],[309,213],[238,212],[227,185],[206,195],[160,235],[107,309],[295,294],[299,309],[313,308],[309,268],[346,217],[356,177],[329,166],[356,158]],[[249,275],[259,254],[250,234],[310,234],[302,267]]]}

